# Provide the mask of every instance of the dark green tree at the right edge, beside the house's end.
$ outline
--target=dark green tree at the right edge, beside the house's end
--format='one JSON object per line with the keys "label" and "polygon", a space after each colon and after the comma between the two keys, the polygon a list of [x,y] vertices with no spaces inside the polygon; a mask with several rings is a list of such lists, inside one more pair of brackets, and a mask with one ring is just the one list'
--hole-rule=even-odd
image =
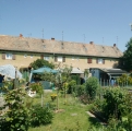
{"label": "dark green tree at the right edge, beside the house's end", "polygon": [[127,71],[132,70],[132,38],[130,38],[130,41],[125,45],[127,50],[123,53],[123,57],[121,58],[122,62],[122,69]]}

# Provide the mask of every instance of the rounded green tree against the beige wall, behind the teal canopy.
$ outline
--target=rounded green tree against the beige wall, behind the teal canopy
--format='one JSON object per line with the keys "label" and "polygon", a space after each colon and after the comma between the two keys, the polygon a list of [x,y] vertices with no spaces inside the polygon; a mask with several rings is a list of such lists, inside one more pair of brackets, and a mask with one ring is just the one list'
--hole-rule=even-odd
{"label": "rounded green tree against the beige wall, behind the teal canopy", "polygon": [[34,69],[38,69],[38,68],[43,68],[43,67],[49,67],[49,68],[53,69],[55,64],[53,63],[49,63],[49,61],[44,60],[44,59],[37,59],[34,62],[32,62],[29,64],[29,67],[32,67]]}

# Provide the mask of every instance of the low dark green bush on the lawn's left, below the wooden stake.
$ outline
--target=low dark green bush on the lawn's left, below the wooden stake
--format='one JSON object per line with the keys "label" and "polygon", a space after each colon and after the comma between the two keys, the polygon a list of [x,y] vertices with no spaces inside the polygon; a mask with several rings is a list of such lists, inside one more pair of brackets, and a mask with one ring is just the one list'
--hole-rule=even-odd
{"label": "low dark green bush on the lawn's left, below the wooden stake", "polygon": [[52,112],[47,107],[40,107],[39,105],[36,105],[33,107],[33,110],[31,112],[31,123],[32,127],[39,127],[47,123],[50,123],[53,118]]}

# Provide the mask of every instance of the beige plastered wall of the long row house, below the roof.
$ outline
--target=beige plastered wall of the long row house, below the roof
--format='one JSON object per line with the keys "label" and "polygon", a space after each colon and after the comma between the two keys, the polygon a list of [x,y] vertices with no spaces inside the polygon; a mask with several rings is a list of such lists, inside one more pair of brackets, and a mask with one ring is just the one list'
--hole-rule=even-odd
{"label": "beige plastered wall of the long row house, below the roof", "polygon": [[[24,55],[27,55],[25,58]],[[31,57],[33,56],[33,58]],[[59,62],[55,62],[53,56],[52,55],[45,55],[44,56],[49,56],[49,62],[53,62],[58,64]],[[15,67],[20,68],[27,68],[31,62],[35,61],[36,59],[40,59],[39,53],[24,53],[24,52],[15,52],[15,60],[9,60],[2,59],[2,55],[0,53],[0,66],[3,64],[13,64]],[[62,64],[68,64],[72,66],[74,68],[80,68],[82,71],[84,69],[89,69],[89,68],[113,68],[115,64],[118,64],[118,61],[116,59],[105,59],[105,64],[103,63],[96,63],[96,58],[93,58],[92,63],[87,63],[87,57],[72,57],[72,56],[67,56],[65,57],[65,62],[61,62]]]}

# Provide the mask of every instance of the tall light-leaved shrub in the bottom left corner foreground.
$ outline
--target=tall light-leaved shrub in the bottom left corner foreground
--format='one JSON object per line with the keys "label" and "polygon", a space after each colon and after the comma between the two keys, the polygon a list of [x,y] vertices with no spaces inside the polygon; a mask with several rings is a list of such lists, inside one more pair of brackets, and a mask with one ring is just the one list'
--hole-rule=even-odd
{"label": "tall light-leaved shrub in the bottom left corner foreground", "polygon": [[25,93],[16,88],[5,93],[5,105],[9,107],[0,122],[2,131],[27,131],[29,127],[29,109],[25,104]]}

